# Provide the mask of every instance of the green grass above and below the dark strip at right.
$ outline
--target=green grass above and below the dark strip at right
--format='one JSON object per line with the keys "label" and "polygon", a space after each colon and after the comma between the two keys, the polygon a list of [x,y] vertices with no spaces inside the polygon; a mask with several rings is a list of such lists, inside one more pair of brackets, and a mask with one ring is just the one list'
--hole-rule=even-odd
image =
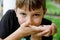
{"label": "green grass above and below the dark strip at right", "polygon": [[[52,4],[51,1],[46,2],[47,13],[48,14],[58,14],[60,15],[60,8],[56,7]],[[60,40],[60,18],[59,17],[52,17],[52,16],[45,16],[45,18],[54,22],[57,26],[57,33],[54,35],[54,40]]]}

